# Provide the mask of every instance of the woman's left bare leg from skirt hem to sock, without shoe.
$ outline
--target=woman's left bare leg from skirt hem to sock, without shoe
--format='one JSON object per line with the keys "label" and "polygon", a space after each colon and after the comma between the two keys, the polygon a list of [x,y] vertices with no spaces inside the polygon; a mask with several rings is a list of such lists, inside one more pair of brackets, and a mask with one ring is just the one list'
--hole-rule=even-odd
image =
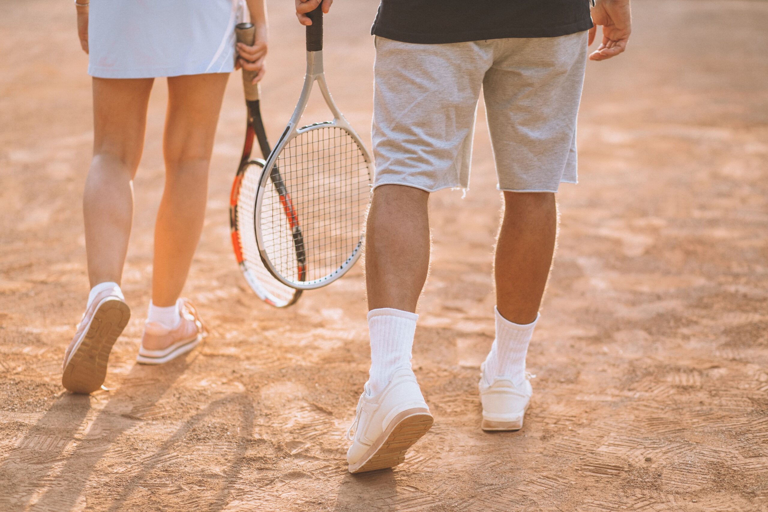
{"label": "woman's left bare leg from skirt hem to sock, without shoe", "polygon": [[132,180],[144,148],[152,81],[93,79],[94,157],[83,193],[91,287],[121,282],[134,212]]}

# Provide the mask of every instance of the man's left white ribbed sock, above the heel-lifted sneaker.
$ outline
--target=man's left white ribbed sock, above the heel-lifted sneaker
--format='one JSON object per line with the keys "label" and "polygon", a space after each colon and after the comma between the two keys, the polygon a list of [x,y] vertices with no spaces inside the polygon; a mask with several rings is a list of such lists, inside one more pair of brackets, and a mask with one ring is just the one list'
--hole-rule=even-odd
{"label": "man's left white ribbed sock, above the heel-lifted sneaker", "polygon": [[400,309],[380,308],[368,312],[371,336],[371,371],[368,385],[378,395],[398,368],[411,367],[411,347],[419,315]]}

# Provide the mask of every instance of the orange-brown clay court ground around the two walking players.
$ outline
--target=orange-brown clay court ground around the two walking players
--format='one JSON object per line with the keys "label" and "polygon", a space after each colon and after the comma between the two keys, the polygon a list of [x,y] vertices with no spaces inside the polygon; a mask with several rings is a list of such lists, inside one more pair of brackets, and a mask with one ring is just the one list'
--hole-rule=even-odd
{"label": "orange-brown clay court ground around the two walking players", "polygon": [[[366,139],[376,4],[326,19],[329,85]],[[304,69],[292,5],[270,2],[273,140]],[[284,310],[245,285],[227,223],[239,74],[185,291],[211,335],[184,360],[134,362],[163,186],[158,80],[123,279],[133,317],[109,391],[61,388],[88,292],[87,58],[71,2],[2,11],[0,510],[768,510],[768,2],[637,0],[630,51],[589,65],[535,395],[525,428],[498,434],[479,428],[500,206],[479,123],[466,197],[432,197],[413,364],[435,426],[394,471],[361,476],[343,434],[369,356],[362,266]]]}

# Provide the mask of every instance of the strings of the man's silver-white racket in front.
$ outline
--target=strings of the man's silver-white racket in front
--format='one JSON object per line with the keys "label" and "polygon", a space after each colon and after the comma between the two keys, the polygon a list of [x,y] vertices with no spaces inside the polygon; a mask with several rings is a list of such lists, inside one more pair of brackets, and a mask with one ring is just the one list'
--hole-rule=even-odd
{"label": "strings of the man's silver-white racket in front", "polygon": [[[323,279],[359,245],[370,194],[365,154],[343,128],[316,127],[286,144],[275,167],[285,188],[281,193],[270,183],[270,193],[265,190],[260,223],[266,253],[286,279]],[[298,240],[286,235],[296,232],[293,219]],[[292,268],[288,255],[296,249],[304,262]]]}

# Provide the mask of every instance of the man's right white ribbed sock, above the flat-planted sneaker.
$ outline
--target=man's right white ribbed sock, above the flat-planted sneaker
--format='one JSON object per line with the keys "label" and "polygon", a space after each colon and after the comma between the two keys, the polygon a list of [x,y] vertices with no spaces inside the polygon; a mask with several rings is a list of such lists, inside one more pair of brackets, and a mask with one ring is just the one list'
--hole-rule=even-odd
{"label": "man's right white ribbed sock, above the flat-planted sneaker", "polygon": [[498,309],[496,313],[496,339],[491,345],[491,352],[485,358],[485,382],[490,385],[496,377],[511,378],[515,385],[525,380],[525,354],[531,342],[536,319],[526,325],[516,324],[505,319]]}

